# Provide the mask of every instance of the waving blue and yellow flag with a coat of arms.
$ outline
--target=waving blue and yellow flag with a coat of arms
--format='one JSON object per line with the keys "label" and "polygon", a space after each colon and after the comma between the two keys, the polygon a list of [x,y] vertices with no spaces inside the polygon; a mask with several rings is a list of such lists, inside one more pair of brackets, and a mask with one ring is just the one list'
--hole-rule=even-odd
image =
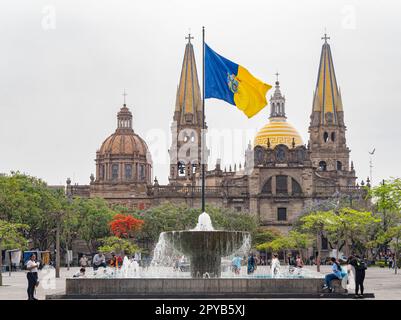
{"label": "waving blue and yellow flag with a coat of arms", "polygon": [[227,101],[251,118],[267,105],[266,93],[270,88],[205,43],[205,98]]}

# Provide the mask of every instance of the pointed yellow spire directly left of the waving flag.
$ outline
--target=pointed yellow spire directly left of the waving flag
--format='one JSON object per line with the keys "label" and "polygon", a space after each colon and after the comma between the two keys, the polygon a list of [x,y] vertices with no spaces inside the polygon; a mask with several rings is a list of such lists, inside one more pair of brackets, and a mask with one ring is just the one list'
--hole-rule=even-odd
{"label": "pointed yellow spire directly left of the waving flag", "polygon": [[188,43],[185,47],[184,60],[182,62],[175,111],[181,111],[182,117],[188,113],[193,114],[196,117],[196,112],[202,110],[202,100],[195,54],[191,43],[193,37],[189,34],[186,39],[188,39]]}

